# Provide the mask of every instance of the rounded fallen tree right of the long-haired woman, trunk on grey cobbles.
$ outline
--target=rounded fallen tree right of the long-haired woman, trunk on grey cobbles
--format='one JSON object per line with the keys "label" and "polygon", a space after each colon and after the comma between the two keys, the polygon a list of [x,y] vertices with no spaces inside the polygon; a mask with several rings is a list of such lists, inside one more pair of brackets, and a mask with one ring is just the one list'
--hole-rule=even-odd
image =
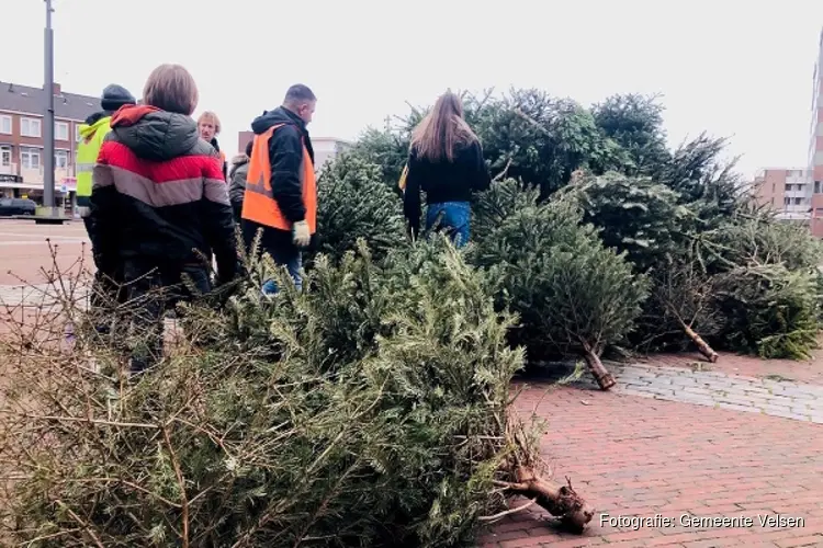
{"label": "rounded fallen tree right of the long-haired woman, trunk on grey cobbles", "polygon": [[633,328],[646,279],[632,272],[624,253],[604,247],[575,203],[525,203],[515,199],[518,187],[508,180],[484,197],[489,203],[480,209],[483,233],[470,260],[501,281],[498,309],[510,308],[521,319],[511,331],[514,344],[523,345],[530,359],[582,355],[608,389],[615,378],[600,354]]}

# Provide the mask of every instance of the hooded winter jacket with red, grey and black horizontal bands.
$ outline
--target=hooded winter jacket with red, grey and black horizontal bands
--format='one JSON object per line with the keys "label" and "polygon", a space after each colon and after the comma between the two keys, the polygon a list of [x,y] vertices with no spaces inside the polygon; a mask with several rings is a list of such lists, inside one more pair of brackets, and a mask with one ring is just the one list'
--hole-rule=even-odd
{"label": "hooded winter jacket with red, grey and black horizontal bands", "polygon": [[137,105],[112,117],[93,172],[98,269],[124,261],[166,269],[217,259],[221,282],[237,272],[228,189],[214,148],[182,114]]}

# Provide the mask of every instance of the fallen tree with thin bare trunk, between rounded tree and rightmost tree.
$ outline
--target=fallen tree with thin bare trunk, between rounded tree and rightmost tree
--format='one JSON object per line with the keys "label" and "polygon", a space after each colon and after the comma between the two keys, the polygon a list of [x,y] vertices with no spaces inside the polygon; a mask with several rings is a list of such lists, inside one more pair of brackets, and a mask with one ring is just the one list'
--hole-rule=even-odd
{"label": "fallen tree with thin bare trunk, between rounded tree and rightmost tree", "polygon": [[[586,222],[599,228],[604,244],[625,252],[635,272],[650,278],[650,298],[638,319],[635,346],[686,335],[710,362],[718,353],[703,340],[717,315],[711,309],[711,276],[695,259],[697,213],[679,204],[680,195],[645,176],[579,172],[555,199],[579,206]],[[685,345],[680,346],[684,350]]]}

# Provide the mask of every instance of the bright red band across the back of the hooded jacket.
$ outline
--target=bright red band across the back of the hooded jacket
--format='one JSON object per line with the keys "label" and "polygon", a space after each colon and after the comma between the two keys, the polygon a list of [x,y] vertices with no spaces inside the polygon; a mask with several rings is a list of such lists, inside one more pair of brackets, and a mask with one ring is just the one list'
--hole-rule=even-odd
{"label": "bright red band across the back of the hooded jacket", "polygon": [[213,156],[179,156],[170,160],[154,161],[138,158],[122,142],[104,141],[98,163],[131,171],[155,183],[173,183],[188,179],[216,179],[224,181],[219,158]]}

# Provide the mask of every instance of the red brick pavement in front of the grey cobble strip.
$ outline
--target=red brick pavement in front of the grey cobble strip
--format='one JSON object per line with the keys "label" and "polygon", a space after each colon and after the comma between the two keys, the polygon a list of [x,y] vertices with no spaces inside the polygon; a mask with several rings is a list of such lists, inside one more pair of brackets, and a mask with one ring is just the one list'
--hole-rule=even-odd
{"label": "red brick pavement in front of the grey cobble strip", "polygon": [[[484,536],[484,547],[823,546],[823,426],[610,392],[533,387],[518,408],[549,421],[544,456],[597,513],[584,535],[542,511]],[[518,501],[520,503],[520,501]],[[675,520],[673,527],[601,525],[601,514]],[[762,528],[758,515],[803,517]],[[680,526],[681,515],[753,516],[754,527]],[[688,524],[686,524],[688,525]]]}

